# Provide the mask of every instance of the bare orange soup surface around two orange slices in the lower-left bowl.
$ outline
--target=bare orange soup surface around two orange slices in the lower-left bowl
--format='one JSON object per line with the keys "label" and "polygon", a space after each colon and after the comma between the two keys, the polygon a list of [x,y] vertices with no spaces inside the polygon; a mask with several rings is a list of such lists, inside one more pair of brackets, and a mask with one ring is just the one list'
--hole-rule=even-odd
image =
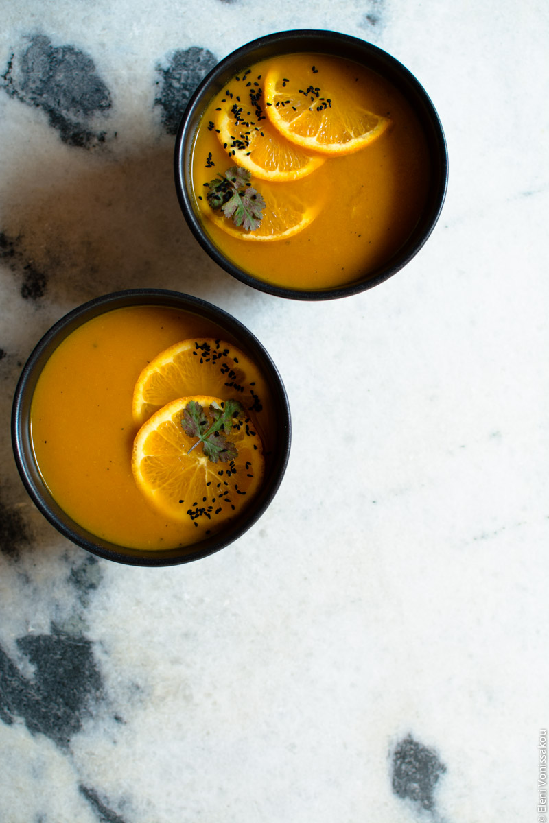
{"label": "bare orange soup surface around two orange slices in the lower-left bowl", "polygon": [[[114,309],[72,332],[36,385],[30,433],[46,485],[77,523],[119,546],[169,549],[196,540],[190,519],[166,520],[147,503],[131,467],[137,377],[153,357],[190,337],[235,343],[214,323],[178,309]],[[207,385],[202,393],[211,393]]]}

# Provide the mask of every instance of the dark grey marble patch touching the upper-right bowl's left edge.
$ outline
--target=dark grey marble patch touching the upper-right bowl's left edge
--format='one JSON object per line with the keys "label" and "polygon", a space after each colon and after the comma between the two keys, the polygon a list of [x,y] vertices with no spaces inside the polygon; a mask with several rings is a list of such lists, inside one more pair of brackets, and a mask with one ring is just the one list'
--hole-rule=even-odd
{"label": "dark grey marble patch touching the upper-right bowl's left edge", "polygon": [[167,67],[156,66],[155,105],[162,109],[162,124],[168,134],[176,134],[181,115],[198,83],[216,65],[211,51],[192,46],[170,54]]}

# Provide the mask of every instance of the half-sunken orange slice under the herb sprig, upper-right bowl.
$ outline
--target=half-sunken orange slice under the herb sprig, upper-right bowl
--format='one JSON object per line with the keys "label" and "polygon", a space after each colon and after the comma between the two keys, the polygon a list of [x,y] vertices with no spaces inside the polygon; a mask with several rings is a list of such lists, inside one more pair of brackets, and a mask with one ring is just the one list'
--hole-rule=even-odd
{"label": "half-sunken orange slice under the herb sprig, upper-right bowl", "polygon": [[255,231],[235,226],[221,211],[214,212],[210,207],[204,209],[210,220],[231,237],[262,243],[289,239],[310,226],[323,205],[322,201],[314,202],[312,206],[305,205],[295,190],[281,191],[277,185],[258,184],[255,180],[252,180],[252,185],[265,200],[263,219]]}

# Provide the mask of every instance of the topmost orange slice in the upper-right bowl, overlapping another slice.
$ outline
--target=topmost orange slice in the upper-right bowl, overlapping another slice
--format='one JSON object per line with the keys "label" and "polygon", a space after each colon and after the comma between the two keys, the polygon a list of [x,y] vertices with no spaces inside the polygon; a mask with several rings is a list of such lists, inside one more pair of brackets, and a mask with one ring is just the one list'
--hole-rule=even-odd
{"label": "topmost orange slice in the upper-right bowl, overlapping another slice", "polygon": [[361,103],[360,89],[322,68],[272,68],[265,77],[265,108],[283,137],[305,151],[342,156],[369,146],[391,122]]}

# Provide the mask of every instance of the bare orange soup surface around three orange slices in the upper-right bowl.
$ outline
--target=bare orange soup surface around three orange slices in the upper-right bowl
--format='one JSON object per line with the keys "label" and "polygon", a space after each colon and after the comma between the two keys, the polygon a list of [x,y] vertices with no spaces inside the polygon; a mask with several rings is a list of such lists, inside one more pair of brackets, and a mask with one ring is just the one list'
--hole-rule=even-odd
{"label": "bare orange soup surface around three orange slices in the upper-right bowl", "polygon": [[[257,94],[269,67],[279,66],[286,77],[309,72],[322,90],[323,78],[352,87],[361,105],[391,120],[375,142],[347,156],[330,156],[303,179],[292,182],[257,181],[269,189],[300,198],[312,205],[322,202],[319,216],[293,237],[274,242],[244,241],[232,237],[208,219],[204,192],[217,173],[234,165],[221,145],[212,123],[226,91],[240,98],[244,115],[253,114],[248,100]],[[226,83],[205,110],[193,144],[193,193],[203,225],[212,241],[237,266],[277,286],[318,290],[345,286],[384,265],[405,244],[421,216],[430,185],[430,161],[425,135],[411,105],[384,77],[342,58],[293,54],[257,63]],[[258,79],[257,79],[258,78]],[[249,86],[249,83],[252,86]],[[304,83],[308,82],[305,80]],[[257,84],[254,86],[254,84]],[[229,147],[230,151],[230,147]]]}

